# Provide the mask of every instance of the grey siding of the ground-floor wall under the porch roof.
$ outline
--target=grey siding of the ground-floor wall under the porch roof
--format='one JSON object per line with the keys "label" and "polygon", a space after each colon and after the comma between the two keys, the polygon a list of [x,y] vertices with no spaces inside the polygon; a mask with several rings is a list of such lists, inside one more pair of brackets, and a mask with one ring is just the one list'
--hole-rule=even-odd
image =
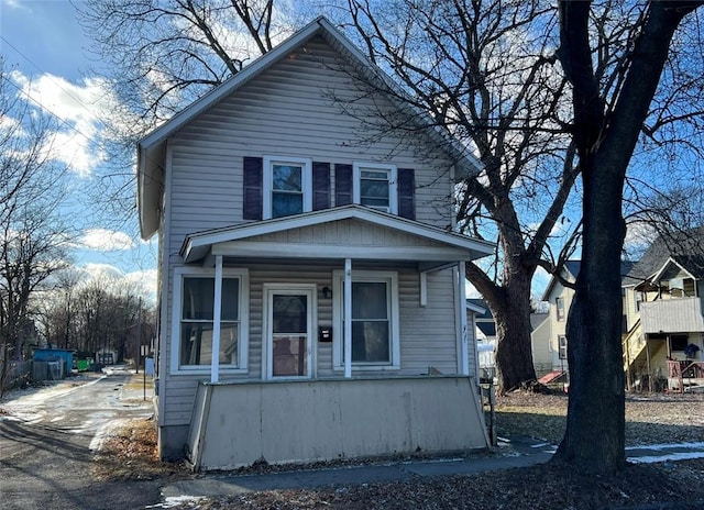
{"label": "grey siding of the ground-floor wall under the porch roof", "polygon": [[[353,265],[355,269],[361,265]],[[250,335],[249,335],[249,374],[221,375],[221,380],[251,379],[262,377],[262,299],[264,284],[315,284],[317,295],[318,323],[314,324],[312,340],[316,350],[315,359],[317,377],[341,377],[340,370],[332,369],[332,343],[320,343],[317,340],[318,326],[332,325],[332,300],[321,295],[322,287],[332,287],[332,274],[340,266],[283,266],[280,269],[260,265],[250,266]],[[386,267],[393,270],[393,267]],[[452,293],[452,269],[430,273],[428,275],[428,304],[420,307],[419,274],[416,270],[398,270],[399,288],[399,328],[400,328],[400,369],[389,372],[389,376],[411,376],[428,374],[433,367],[442,374],[457,374],[457,335],[454,324],[454,296]],[[177,334],[177,332],[176,332]],[[473,340],[471,337],[470,340]],[[166,356],[173,347],[167,342]],[[378,372],[354,370],[360,375],[378,376]],[[170,375],[166,377],[165,399],[167,425],[187,424],[190,420],[197,381],[208,379],[208,375]]]}

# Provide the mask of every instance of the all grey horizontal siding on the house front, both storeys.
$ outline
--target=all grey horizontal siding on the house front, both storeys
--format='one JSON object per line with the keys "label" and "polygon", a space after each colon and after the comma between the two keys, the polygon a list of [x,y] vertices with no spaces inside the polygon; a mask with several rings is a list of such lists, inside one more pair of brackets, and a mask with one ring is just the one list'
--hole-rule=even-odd
{"label": "all grey horizontal siding on the house front, both storeys", "polygon": [[[440,228],[452,223],[450,163],[438,155],[436,144],[424,144],[418,133],[413,143],[396,136],[383,136],[373,143],[364,138],[372,133],[362,121],[341,112],[331,91],[354,96],[351,78],[339,67],[336,53],[316,40],[307,53],[297,52],[295,60],[283,60],[239,89],[209,111],[199,115],[167,142],[165,228],[168,233],[162,246],[168,260],[168,278],[163,289],[166,299],[162,317],[163,356],[160,407],[166,409],[162,424],[187,424],[190,420],[196,381],[208,376],[170,375],[173,337],[173,269],[179,265],[179,250],[189,233],[242,223],[243,157],[306,157],[331,164],[331,202],[334,203],[334,165],[353,162],[391,163],[398,168],[413,168],[416,180],[416,220]],[[353,108],[362,118],[373,114],[374,103],[385,99],[367,98]],[[348,104],[349,107],[349,104]],[[388,103],[386,107],[389,108]],[[372,136],[373,137],[373,136]],[[435,159],[433,159],[435,158]],[[383,229],[366,229],[344,233],[339,225],[323,230],[282,234],[286,242],[299,235],[304,242],[394,243]],[[396,240],[400,242],[402,240]],[[284,242],[284,240],[282,240]],[[417,241],[416,241],[417,243]],[[341,267],[341,266],[340,266]],[[300,269],[299,273],[296,273]],[[284,267],[271,271],[254,267],[250,273],[249,374],[227,378],[261,378],[262,367],[262,285],[265,281],[316,282],[319,288],[331,286],[332,267]],[[393,269],[393,268],[391,268]],[[443,373],[457,373],[457,341],[451,271],[430,274],[428,307],[419,307],[418,274],[399,271],[400,330],[403,373],[427,373],[428,365]],[[331,325],[331,301],[318,296],[318,323]],[[317,336],[317,325],[314,331]],[[408,342],[408,346],[405,345]],[[318,376],[338,376],[332,370],[332,344],[317,343]],[[397,373],[397,372],[396,372]],[[162,417],[160,417],[161,419]]]}

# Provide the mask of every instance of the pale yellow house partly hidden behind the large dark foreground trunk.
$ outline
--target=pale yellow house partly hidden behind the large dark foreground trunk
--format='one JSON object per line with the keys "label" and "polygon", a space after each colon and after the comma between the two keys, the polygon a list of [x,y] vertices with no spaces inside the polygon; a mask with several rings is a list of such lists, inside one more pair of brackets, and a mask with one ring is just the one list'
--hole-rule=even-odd
{"label": "pale yellow house partly hidden behind the large dark foreground trunk", "polygon": [[[568,260],[562,268],[561,277],[569,284],[574,284],[580,274],[580,260]],[[623,260],[620,265],[620,274],[623,281],[627,280],[627,275],[632,267],[632,263]],[[626,298],[624,296],[624,310],[626,309]],[[566,321],[568,312],[574,299],[574,289],[564,286],[559,278],[552,277],[542,300],[549,303],[548,318],[538,326],[534,328],[531,334],[534,363],[536,370],[538,365],[541,372],[560,370],[568,368],[568,337]],[[626,314],[623,319],[623,333],[627,330]]]}

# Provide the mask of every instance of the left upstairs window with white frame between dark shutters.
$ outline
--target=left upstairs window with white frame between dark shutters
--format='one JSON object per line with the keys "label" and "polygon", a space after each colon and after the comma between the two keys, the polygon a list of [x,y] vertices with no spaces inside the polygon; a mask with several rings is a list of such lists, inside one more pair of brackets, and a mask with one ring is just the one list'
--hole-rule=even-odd
{"label": "left upstairs window with white frame between dark shutters", "polygon": [[264,219],[312,210],[312,164],[308,158],[264,157]]}

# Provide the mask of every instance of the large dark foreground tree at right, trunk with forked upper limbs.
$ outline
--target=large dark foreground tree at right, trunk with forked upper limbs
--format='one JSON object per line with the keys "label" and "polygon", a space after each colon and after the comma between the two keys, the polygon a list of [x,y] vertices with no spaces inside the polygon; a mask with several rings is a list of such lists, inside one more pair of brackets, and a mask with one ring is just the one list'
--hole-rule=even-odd
{"label": "large dark foreground tree at right, trunk with forked upper limbs", "polygon": [[619,293],[626,171],[675,32],[703,4],[700,0],[645,5],[630,44],[622,53],[618,84],[613,93],[605,95],[590,44],[592,5],[560,2],[559,56],[572,88],[584,228],[582,266],[568,319],[568,426],[554,458],[595,473],[614,472],[626,463]]}

